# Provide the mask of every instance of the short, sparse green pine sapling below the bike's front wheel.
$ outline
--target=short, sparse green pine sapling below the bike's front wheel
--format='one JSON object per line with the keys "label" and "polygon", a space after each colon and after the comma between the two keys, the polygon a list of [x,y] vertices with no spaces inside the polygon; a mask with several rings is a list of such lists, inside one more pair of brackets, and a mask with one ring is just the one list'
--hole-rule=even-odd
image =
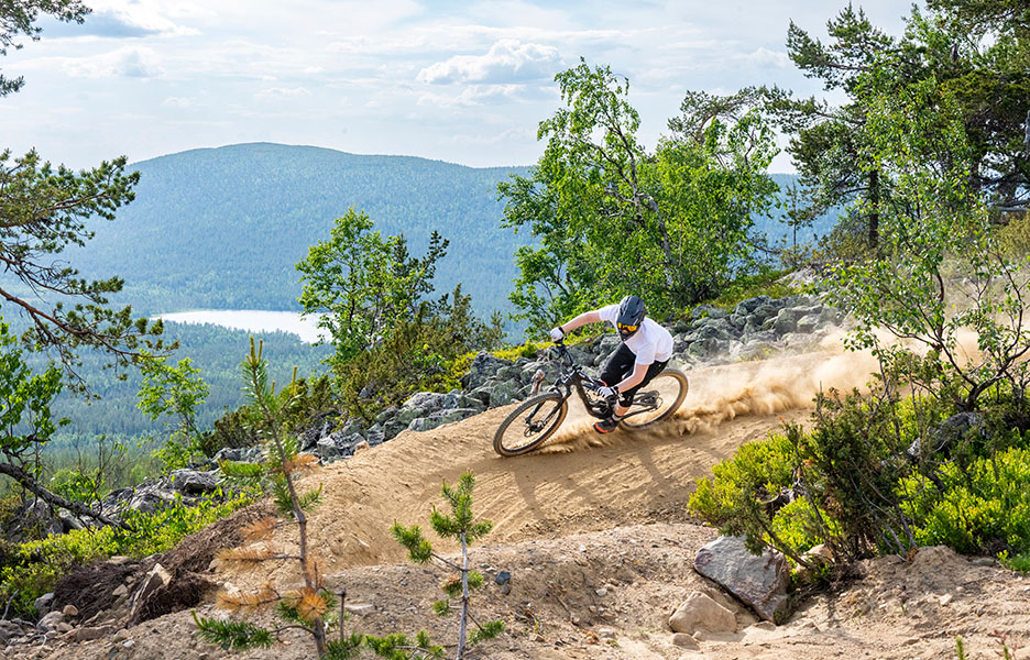
{"label": "short, sparse green pine sapling below the bike's front wheel", "polygon": [[[459,596],[461,598],[456,660],[461,660],[464,657],[467,644],[472,646],[479,641],[492,639],[504,631],[502,622],[487,622],[481,625],[469,612],[470,590],[483,585],[483,574],[469,568],[469,546],[486,536],[493,528],[493,524],[489,520],[475,522],[473,519],[472,486],[474,484],[475,480],[472,473],[469,472],[461,475],[457,487],[449,486],[445,481],[442,492],[443,497],[450,504],[451,515],[441,514],[435,506],[429,515],[429,524],[440,537],[456,539],[461,542],[460,565],[434,552],[432,544],[423,537],[421,529],[417,525],[404,527],[396,522],[393,526],[394,538],[407,548],[408,558],[412,561],[426,564],[431,560],[436,560],[439,564],[458,573],[443,584],[442,588],[447,597],[434,604],[434,610],[440,616],[446,616],[451,612],[451,600]],[[469,619],[475,625],[475,630],[471,635],[468,634]]]}

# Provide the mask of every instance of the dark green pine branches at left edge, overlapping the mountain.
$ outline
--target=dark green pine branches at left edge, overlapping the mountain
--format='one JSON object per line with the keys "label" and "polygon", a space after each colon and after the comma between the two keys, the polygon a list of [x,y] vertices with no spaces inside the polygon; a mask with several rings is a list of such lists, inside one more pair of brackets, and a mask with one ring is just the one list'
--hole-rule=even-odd
{"label": "dark green pine branches at left edge, overlapping the mountain", "polygon": [[[0,9],[0,19],[9,14],[9,6]],[[67,246],[85,245],[92,238],[87,220],[113,220],[116,211],[132,201],[139,173],[127,175],[124,168],[121,157],[76,173],[64,165],[55,169],[34,151],[17,158],[0,151],[0,242],[9,258],[7,272],[24,287],[8,290],[10,284],[4,284],[0,292],[11,310],[32,322],[32,331],[22,336],[25,345],[56,355],[76,388],[84,385],[76,377],[84,350],[99,350],[120,367],[133,362],[140,350],[164,351],[156,339],[160,322],[133,319],[129,307],[109,306],[108,296],[121,290],[119,277],[89,280],[53,260]],[[36,290],[50,292],[58,301],[41,306],[33,300],[31,292]]]}

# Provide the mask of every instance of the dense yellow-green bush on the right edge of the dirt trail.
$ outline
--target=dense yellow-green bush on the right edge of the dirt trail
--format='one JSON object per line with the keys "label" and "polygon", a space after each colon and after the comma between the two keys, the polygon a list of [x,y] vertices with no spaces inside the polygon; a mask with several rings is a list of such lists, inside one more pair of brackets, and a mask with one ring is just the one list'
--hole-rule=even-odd
{"label": "dense yellow-green bush on the right edge of the dirt trail", "polygon": [[797,563],[824,542],[852,559],[941,543],[1030,565],[1030,435],[1006,427],[1021,417],[1005,389],[964,433],[942,424],[953,409],[940,399],[831,392],[810,431],[788,425],[743,446],[690,506]]}

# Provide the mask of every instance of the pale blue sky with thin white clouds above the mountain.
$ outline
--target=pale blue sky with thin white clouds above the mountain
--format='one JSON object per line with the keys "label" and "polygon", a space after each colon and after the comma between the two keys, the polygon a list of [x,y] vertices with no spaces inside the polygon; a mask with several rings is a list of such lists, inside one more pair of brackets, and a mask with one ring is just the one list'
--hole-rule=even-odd
{"label": "pale blue sky with thin white clouds above the mountain", "polygon": [[[242,142],[532,165],[580,58],[629,80],[654,146],[688,90],[821,95],[787,57],[846,0],[87,0],[0,58],[0,145],[80,168]],[[910,3],[854,2],[900,34]],[[780,155],[773,172],[792,172]]]}

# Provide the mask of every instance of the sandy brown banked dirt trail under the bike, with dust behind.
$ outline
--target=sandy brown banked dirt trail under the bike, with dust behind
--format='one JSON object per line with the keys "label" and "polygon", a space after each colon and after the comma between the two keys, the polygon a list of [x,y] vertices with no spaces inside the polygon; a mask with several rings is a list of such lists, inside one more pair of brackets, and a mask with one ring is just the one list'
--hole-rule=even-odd
{"label": "sandy brown banked dirt trail under the bike, with dust behind", "polygon": [[[494,524],[492,543],[682,521],[695,481],[715,463],[784,421],[807,420],[819,387],[863,385],[867,366],[855,355],[828,351],[692,371],[690,393],[672,421],[598,436],[576,402],[555,438],[518,458],[503,459],[492,447],[512,406],[432,431],[404,432],[309,479],[325,493],[311,516],[311,541],[329,572],[403,561],[390,535],[393,522],[426,526],[442,481],[452,483],[467,471],[476,479],[478,515]],[[255,586],[258,576],[249,572],[220,570],[240,586]],[[296,575],[291,566],[273,578]]]}

